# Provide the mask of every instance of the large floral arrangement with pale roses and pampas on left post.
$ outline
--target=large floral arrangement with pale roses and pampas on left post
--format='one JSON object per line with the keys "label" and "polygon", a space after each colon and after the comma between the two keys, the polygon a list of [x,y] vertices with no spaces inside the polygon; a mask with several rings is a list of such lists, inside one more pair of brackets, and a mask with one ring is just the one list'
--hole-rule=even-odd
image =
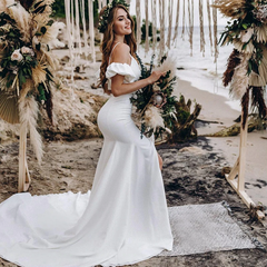
{"label": "large floral arrangement with pale roses and pampas on left post", "polygon": [[[24,8],[14,0],[0,3],[0,117],[21,123],[40,161],[41,138],[36,129],[39,106],[52,121],[56,61],[50,49],[63,46],[57,37],[63,23],[51,20],[53,0],[36,0]],[[39,105],[38,105],[39,103]]]}

